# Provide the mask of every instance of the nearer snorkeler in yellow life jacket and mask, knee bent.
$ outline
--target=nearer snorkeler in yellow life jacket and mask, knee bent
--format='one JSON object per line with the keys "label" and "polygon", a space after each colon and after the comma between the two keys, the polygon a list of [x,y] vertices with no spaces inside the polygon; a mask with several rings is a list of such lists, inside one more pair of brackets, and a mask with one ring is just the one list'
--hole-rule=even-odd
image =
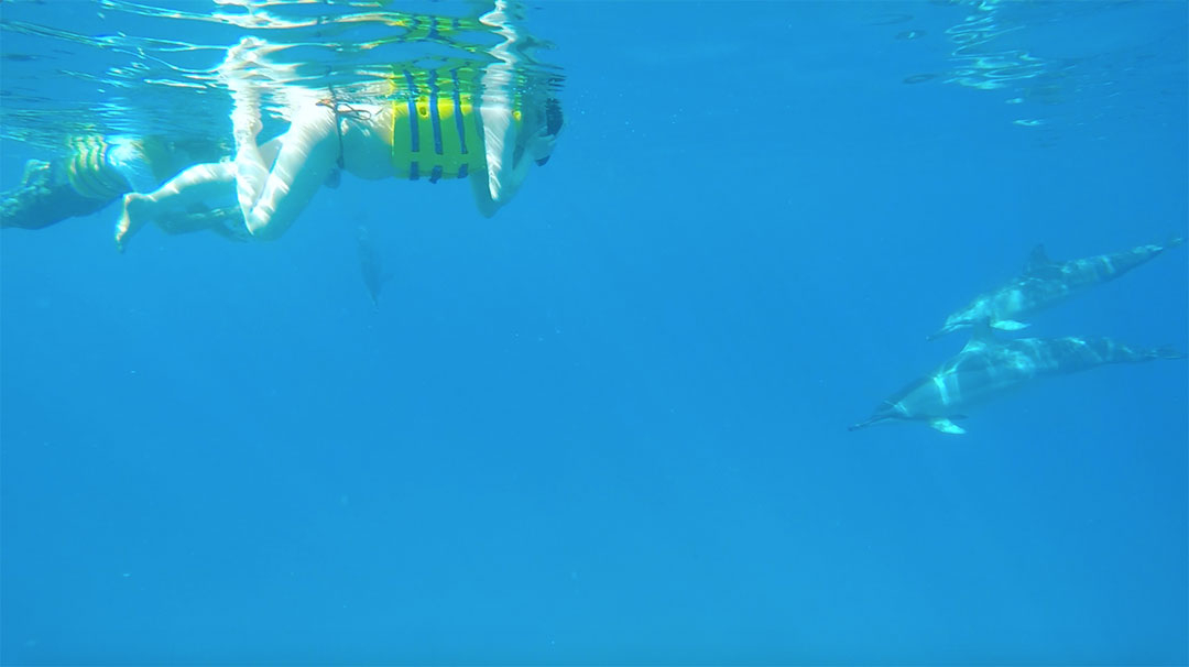
{"label": "nearer snorkeler in yellow life jacket and mask, knee bent", "polygon": [[265,144],[260,95],[283,77],[268,56],[277,48],[246,38],[232,48],[221,68],[234,99],[233,162],[199,164],[158,190],[130,194],[117,224],[122,250],[149,222],[233,190],[246,233],[275,239],[336,170],[360,178],[466,178],[479,210],[493,215],[520,189],[533,162],[545,164],[561,130],[561,107],[545,88],[514,89],[517,58],[508,45],[517,38],[498,10],[482,20],[499,27],[504,44],[491,49],[478,81],[457,70],[407,68],[389,84],[407,93],[384,103],[317,99],[289,89],[290,126]]}

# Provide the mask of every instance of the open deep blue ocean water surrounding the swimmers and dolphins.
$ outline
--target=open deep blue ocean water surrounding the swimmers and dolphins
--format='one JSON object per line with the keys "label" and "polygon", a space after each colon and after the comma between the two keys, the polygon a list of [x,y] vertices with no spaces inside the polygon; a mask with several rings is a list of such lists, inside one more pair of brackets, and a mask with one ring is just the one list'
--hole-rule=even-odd
{"label": "open deep blue ocean water surrounding the swimmers and dolphins", "polygon": [[[0,661],[1189,661],[1184,360],[847,430],[1034,245],[1187,233],[1184,2],[529,13],[566,127],[492,220],[345,178],[275,243],[4,231]],[[1026,335],[1184,351],[1187,276]]]}

